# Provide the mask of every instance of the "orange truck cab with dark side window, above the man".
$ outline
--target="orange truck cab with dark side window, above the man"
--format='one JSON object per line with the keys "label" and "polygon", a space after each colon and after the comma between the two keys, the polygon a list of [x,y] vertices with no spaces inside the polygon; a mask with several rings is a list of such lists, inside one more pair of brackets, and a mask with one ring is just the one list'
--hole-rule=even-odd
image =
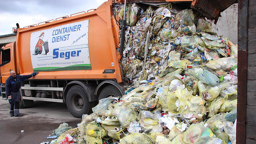
{"label": "orange truck cab with dark side window, above the man", "polygon": [[6,44],[1,49],[1,83],[5,83],[6,79],[10,76],[10,70],[15,70],[14,46],[15,42]]}

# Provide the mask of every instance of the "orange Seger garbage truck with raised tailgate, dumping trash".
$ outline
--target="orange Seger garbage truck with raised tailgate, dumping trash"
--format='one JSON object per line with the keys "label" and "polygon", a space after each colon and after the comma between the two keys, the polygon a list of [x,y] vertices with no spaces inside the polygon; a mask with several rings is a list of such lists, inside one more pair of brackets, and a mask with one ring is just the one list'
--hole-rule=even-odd
{"label": "orange Seger garbage truck with raised tailgate, dumping trash", "polygon": [[[124,95],[120,64],[123,38],[119,36],[120,28],[113,11],[117,3],[124,2],[107,1],[97,9],[24,28],[17,24],[16,42],[1,47],[3,99],[7,98],[5,81],[10,76],[10,70],[21,75],[39,72],[35,77],[21,82],[20,107],[33,100],[65,102],[73,116],[81,117],[89,112],[93,102],[111,95]],[[184,6],[190,8],[205,7],[199,0],[143,2],[185,2]],[[212,9],[201,11],[211,19],[218,19],[219,13],[231,4],[218,5],[218,8],[212,5]],[[214,11],[214,8],[217,10]]]}

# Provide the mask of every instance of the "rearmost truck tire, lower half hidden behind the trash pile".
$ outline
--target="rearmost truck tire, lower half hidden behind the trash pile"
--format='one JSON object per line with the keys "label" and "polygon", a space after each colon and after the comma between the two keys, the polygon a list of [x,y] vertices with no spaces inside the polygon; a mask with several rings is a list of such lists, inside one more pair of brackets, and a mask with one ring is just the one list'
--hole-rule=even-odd
{"label": "rearmost truck tire, lower half hidden behind the trash pile", "polygon": [[104,87],[100,91],[98,100],[101,100],[103,98],[107,98],[107,97],[110,97],[110,96],[121,97],[122,93],[120,92],[120,90],[116,86],[109,85],[109,86]]}

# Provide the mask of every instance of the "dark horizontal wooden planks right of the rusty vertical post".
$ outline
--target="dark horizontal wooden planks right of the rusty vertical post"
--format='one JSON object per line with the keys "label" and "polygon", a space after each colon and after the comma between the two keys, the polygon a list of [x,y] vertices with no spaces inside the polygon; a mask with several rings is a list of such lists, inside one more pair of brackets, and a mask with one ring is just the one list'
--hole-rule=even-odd
{"label": "dark horizontal wooden planks right of the rusty vertical post", "polygon": [[256,143],[256,0],[248,0],[246,143]]}

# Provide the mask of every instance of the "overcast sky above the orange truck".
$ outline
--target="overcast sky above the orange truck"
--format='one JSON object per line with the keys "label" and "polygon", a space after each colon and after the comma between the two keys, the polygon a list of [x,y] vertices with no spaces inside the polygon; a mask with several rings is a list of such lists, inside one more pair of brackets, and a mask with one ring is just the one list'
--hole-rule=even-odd
{"label": "overcast sky above the orange truck", "polygon": [[62,16],[98,8],[107,0],[0,0],[0,35],[12,28],[38,24]]}

